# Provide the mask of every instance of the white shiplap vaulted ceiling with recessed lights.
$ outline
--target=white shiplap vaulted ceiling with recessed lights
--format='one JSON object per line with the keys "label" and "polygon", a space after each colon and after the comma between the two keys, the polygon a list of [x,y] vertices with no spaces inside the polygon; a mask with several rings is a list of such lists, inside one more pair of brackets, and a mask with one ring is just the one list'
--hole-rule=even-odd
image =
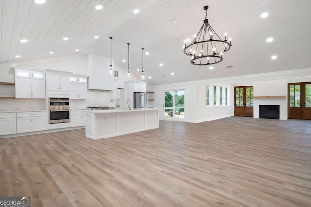
{"label": "white shiplap vaulted ceiling with recessed lights", "polygon": [[[95,10],[98,4],[104,8]],[[226,32],[233,39],[213,70],[191,65],[182,52],[184,39],[203,24],[205,5],[218,35]],[[151,85],[310,68],[310,11],[311,0],[0,0],[0,63],[73,53],[110,57],[111,36],[113,59],[124,69],[131,43],[130,68],[137,76],[141,48],[150,52],[144,70]],[[269,13],[265,19],[263,12]],[[268,37],[274,41],[267,43]]]}

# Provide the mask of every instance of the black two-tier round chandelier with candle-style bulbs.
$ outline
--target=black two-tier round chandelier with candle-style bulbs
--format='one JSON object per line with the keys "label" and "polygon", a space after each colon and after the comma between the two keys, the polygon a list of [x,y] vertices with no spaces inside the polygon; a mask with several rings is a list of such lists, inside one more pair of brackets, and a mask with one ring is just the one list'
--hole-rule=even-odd
{"label": "black two-tier round chandelier with candle-style bulbs", "polygon": [[205,19],[199,32],[194,35],[194,39],[190,45],[186,45],[187,40],[184,41],[184,53],[191,56],[191,64],[193,65],[212,65],[223,61],[223,53],[227,52],[231,45],[231,38],[229,42],[222,40],[215,30],[210,26],[207,19],[208,6],[204,6]]}

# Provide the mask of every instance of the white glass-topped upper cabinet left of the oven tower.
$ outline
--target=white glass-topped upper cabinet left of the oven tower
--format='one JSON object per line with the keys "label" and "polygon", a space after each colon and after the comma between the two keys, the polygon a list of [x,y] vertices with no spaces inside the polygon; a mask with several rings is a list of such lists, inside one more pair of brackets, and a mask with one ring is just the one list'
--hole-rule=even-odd
{"label": "white glass-topped upper cabinet left of the oven tower", "polygon": [[44,99],[45,73],[42,70],[14,67],[15,98]]}

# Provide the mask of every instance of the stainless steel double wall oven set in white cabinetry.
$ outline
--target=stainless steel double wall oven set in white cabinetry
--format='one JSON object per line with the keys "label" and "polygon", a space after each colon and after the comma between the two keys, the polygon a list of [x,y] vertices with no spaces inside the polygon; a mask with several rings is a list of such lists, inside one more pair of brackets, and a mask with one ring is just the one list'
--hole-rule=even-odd
{"label": "stainless steel double wall oven set in white cabinetry", "polygon": [[49,123],[69,122],[69,98],[49,98]]}

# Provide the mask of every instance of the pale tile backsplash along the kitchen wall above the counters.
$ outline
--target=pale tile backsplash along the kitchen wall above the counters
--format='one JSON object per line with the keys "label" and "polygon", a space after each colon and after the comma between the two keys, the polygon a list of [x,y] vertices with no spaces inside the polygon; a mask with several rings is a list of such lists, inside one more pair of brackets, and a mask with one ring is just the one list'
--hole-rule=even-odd
{"label": "pale tile backsplash along the kitchen wall above the counters", "polygon": [[[88,106],[115,106],[115,101],[110,100],[110,91],[88,90],[87,96],[85,100],[70,100],[70,109],[85,109]],[[47,108],[45,99],[0,98],[0,112],[44,110]]]}

